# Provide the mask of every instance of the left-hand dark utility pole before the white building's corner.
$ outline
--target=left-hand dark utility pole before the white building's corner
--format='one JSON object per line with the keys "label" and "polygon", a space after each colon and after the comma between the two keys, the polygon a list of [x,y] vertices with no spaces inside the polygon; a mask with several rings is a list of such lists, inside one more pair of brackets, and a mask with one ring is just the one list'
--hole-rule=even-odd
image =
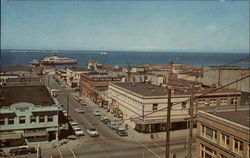
{"label": "left-hand dark utility pole before the white building's corner", "polygon": [[167,129],[166,129],[166,158],[170,154],[170,115],[171,115],[171,89],[168,88]]}

